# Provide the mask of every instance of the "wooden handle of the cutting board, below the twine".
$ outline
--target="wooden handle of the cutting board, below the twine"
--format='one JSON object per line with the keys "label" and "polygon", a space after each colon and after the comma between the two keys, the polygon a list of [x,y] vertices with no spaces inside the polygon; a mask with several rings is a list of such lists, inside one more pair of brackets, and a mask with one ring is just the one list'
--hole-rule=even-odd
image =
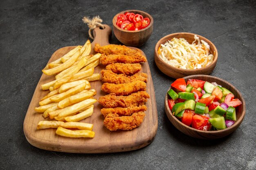
{"label": "wooden handle of the cutting board, below the twine", "polygon": [[92,49],[94,49],[94,46],[96,43],[100,44],[101,46],[108,45],[109,44],[109,38],[112,33],[112,29],[110,26],[103,24],[105,26],[105,29],[101,29],[100,27],[96,27],[92,33],[94,36],[94,40],[92,42]]}

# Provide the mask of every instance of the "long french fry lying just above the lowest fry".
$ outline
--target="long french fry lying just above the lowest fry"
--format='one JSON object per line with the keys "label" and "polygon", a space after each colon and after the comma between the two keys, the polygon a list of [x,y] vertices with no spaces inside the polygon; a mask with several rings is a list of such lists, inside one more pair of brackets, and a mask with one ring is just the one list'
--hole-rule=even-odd
{"label": "long french fry lying just above the lowest fry", "polygon": [[37,129],[58,128],[59,126],[67,129],[78,128],[80,130],[92,130],[93,128],[93,124],[82,122],[39,121]]}

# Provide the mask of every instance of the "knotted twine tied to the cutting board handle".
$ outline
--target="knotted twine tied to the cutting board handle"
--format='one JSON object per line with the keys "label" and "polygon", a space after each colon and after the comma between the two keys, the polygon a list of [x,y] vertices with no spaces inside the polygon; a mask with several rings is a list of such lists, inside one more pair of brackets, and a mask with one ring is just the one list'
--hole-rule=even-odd
{"label": "knotted twine tied to the cutting board handle", "polygon": [[103,24],[101,24],[102,20],[101,20],[101,18],[99,18],[99,16],[95,16],[92,19],[90,19],[89,17],[83,17],[83,22],[88,25],[89,37],[92,38],[92,40],[94,39],[94,37],[92,35],[93,29],[95,29],[97,26],[101,27],[102,29],[105,28],[105,26],[103,26]]}

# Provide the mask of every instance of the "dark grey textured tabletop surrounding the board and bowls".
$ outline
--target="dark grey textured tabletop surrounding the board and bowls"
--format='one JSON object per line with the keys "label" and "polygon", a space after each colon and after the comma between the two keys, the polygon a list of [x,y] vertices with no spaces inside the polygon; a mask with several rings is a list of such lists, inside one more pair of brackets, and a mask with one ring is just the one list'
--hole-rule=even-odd
{"label": "dark grey textured tabletop surrounding the board and bowls", "polygon": [[[52,53],[84,44],[83,16],[99,15],[112,26],[116,13],[146,11],[154,30],[143,46],[155,86],[158,130],[145,148],[110,154],[51,152],[31,146],[23,121],[34,89]],[[243,0],[1,0],[0,169],[256,169],[256,1]],[[174,79],[159,71],[154,48],[165,35],[191,32],[211,40],[219,58],[211,75],[233,84],[246,102],[240,127],[218,140],[182,134],[164,111]],[[110,43],[120,44],[112,35]]]}

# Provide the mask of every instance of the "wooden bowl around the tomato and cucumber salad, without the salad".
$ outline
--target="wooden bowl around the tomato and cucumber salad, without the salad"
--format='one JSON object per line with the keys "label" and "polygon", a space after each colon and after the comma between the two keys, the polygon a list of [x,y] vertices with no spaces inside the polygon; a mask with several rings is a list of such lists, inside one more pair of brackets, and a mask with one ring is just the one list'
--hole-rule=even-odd
{"label": "wooden bowl around the tomato and cucumber salad, without the salad", "polygon": [[245,100],[241,93],[229,82],[220,79],[218,77],[213,77],[210,75],[191,75],[184,77],[185,81],[188,79],[200,79],[207,82],[216,82],[217,84],[221,85],[222,87],[227,88],[229,91],[234,93],[235,98],[238,98],[242,104],[238,107],[236,107],[236,119],[237,121],[230,126],[229,128],[223,129],[223,130],[216,130],[216,131],[203,131],[203,130],[197,130],[195,128],[191,128],[189,126],[186,126],[183,124],[179,119],[177,119],[171,112],[169,106],[168,106],[168,94],[166,93],[165,96],[165,112],[173,126],[175,126],[178,130],[185,133],[186,135],[189,135],[191,137],[199,138],[199,139],[218,139],[221,137],[225,137],[229,135],[230,133],[234,132],[236,128],[242,123],[244,117],[245,117]]}

